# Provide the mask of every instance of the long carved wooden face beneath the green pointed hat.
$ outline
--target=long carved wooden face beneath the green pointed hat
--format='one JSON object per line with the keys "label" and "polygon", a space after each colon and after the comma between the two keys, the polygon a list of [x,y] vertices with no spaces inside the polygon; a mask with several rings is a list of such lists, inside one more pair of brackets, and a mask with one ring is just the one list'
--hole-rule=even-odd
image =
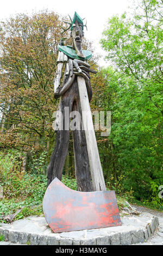
{"label": "long carved wooden face beneath the green pointed hat", "polygon": [[73,39],[73,48],[76,50],[77,55],[84,57],[82,52],[82,39],[84,36],[82,23],[78,23],[78,21],[73,23],[71,36]]}

